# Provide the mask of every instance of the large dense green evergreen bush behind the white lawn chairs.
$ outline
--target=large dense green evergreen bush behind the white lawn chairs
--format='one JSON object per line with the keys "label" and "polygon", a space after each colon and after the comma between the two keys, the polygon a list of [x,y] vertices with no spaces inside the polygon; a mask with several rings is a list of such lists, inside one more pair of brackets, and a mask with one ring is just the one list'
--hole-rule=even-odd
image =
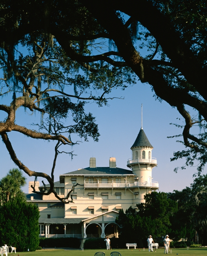
{"label": "large dense green evergreen bush behind the white lawn chairs", "polygon": [[16,196],[0,206],[0,244],[18,252],[35,251],[39,245],[39,209]]}

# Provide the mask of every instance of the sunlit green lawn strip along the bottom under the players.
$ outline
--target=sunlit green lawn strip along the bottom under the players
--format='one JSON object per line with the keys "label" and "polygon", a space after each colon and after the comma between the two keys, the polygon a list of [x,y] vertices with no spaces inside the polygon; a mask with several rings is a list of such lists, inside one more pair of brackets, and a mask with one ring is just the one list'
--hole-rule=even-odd
{"label": "sunlit green lawn strip along the bottom under the players", "polygon": [[[120,252],[122,256],[137,256],[137,255],[149,255],[149,254],[164,254],[164,249],[157,249],[157,252],[148,252],[148,249],[145,249],[145,252],[143,252],[143,249],[136,249],[136,250],[106,250],[106,249],[97,249],[97,250],[74,250],[74,251],[63,251],[63,250],[39,250],[36,252],[19,252],[19,256],[94,256],[95,252],[105,252],[106,256],[110,256],[110,253],[113,251]],[[177,253],[179,256],[207,256],[207,248],[189,248],[187,249],[172,249],[172,254],[177,256]],[[10,254],[10,253],[9,253]],[[13,255],[13,254],[12,254]],[[170,254],[168,254],[170,256]],[[16,256],[16,255],[13,255]]]}

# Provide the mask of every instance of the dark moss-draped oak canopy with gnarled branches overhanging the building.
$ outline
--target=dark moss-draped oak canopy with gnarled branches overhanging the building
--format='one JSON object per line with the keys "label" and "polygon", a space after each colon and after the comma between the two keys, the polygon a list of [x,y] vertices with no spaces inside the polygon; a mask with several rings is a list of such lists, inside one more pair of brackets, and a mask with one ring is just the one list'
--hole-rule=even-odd
{"label": "dark moss-draped oak canopy with gnarled branches overhanging the building", "polygon": [[[45,195],[55,193],[57,155],[71,153],[60,147],[75,143],[73,133],[85,140],[98,139],[94,117],[84,112],[86,101],[107,104],[113,88],[124,89],[137,76],[151,86],[158,100],[183,116],[184,124],[176,124],[183,132],[176,136],[183,137],[179,142],[186,150],[174,153],[171,160],[186,157],[186,165],[199,161],[200,175],[207,161],[206,14],[203,0],[106,0],[104,5],[94,0],[2,1],[0,95],[11,94],[12,99],[0,105],[8,114],[0,133],[14,163],[28,175],[49,181]],[[38,131],[14,123],[20,106],[42,113]],[[69,126],[67,116],[72,116]],[[195,125],[201,128],[198,135],[190,133]],[[11,131],[57,140],[51,177],[20,162],[8,138]]]}

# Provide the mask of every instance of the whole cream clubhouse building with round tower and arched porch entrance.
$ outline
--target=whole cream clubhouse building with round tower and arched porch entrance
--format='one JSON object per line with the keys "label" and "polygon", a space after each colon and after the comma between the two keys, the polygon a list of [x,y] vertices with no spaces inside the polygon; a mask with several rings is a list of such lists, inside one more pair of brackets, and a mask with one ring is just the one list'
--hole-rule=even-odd
{"label": "whole cream clubhouse building with round tower and arched porch entrance", "polygon": [[[89,167],[61,174],[55,182],[60,197],[65,197],[73,184],[82,185],[72,193],[74,204],[64,204],[53,194],[34,194],[29,188],[27,201],[38,204],[40,210],[40,236],[77,237],[82,240],[81,246],[87,238],[118,237],[115,220],[119,210],[130,206],[137,209],[137,204],[144,203],[145,194],[159,188],[158,182],[152,181],[152,168],[157,166],[152,149],[141,128],[131,147],[132,158],[127,161],[131,170],[117,167],[115,157],[110,157],[108,167],[96,167],[96,158],[91,157]],[[44,188],[38,183],[37,187],[40,191]]]}

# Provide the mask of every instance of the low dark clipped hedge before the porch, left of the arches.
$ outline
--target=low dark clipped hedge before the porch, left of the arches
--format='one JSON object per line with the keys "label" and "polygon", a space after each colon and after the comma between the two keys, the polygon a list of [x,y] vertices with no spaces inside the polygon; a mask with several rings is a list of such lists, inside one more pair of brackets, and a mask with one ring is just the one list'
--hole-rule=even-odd
{"label": "low dark clipped hedge before the porch, left of the arches", "polygon": [[40,238],[39,246],[41,247],[71,247],[79,248],[80,239],[75,237],[64,237],[64,238]]}

